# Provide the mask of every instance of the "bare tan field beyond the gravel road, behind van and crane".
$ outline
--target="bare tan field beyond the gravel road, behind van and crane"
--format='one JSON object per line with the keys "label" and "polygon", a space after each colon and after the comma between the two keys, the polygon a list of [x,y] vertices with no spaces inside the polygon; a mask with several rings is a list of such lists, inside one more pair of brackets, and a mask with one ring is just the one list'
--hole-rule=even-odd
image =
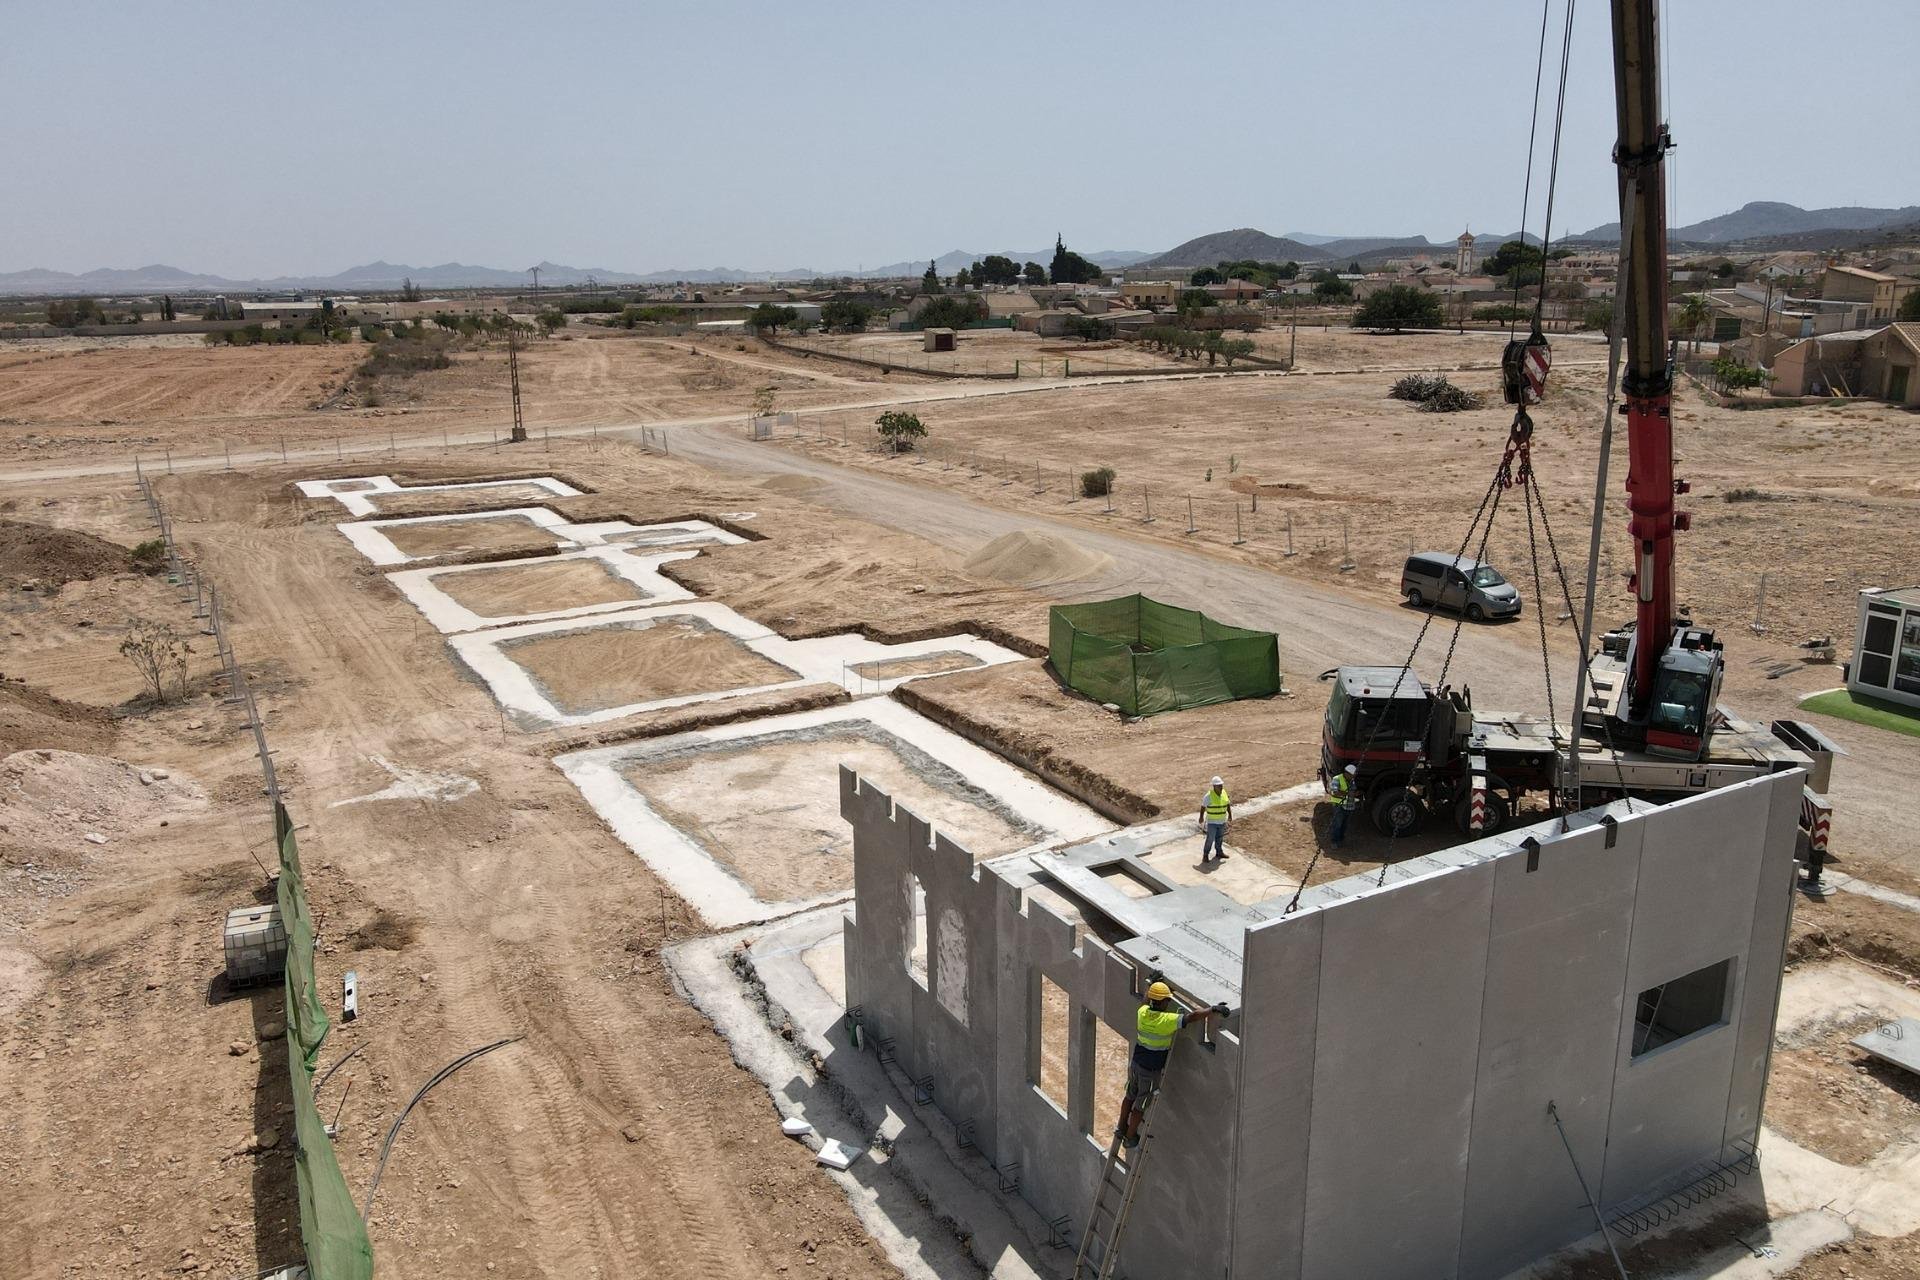
{"label": "bare tan field beyond the gravel road, behind van and crane", "polygon": [[[1392,338],[1334,330],[1315,336],[1319,345],[1327,351],[1313,359],[1340,367],[1371,355],[1367,367],[1452,368],[1498,359],[1500,336]],[[1534,411],[1532,455],[1548,501],[1546,522],[1578,595],[1603,349],[1563,342],[1553,378],[1546,405]],[[1459,547],[1511,420],[1500,405],[1498,372],[1490,368],[1455,374],[1459,386],[1488,397],[1486,409],[1457,415],[1427,415],[1388,399],[1392,380],[1388,372],[1238,378],[1085,388],[1071,399],[937,403],[920,411],[929,436],[918,462],[839,447],[820,436],[793,436],[787,445],[918,484],[958,487],[998,507],[1129,524],[1140,535],[1200,541],[1294,576],[1392,597],[1409,551]],[[1905,543],[1887,537],[1889,528],[1912,522],[1920,497],[1920,472],[1903,472],[1895,461],[1905,457],[1901,441],[1910,434],[1910,415],[1887,405],[1720,409],[1688,386],[1678,391],[1674,418],[1676,468],[1693,486],[1682,509],[1695,512],[1693,532],[1680,535],[1680,601],[1701,622],[1740,629],[1745,643],[1766,572],[1770,649],[1811,635],[1834,635],[1845,645],[1857,587],[1905,581],[1912,568]],[[1073,497],[1073,478],[1096,466],[1117,472],[1112,512],[1104,499]],[[1622,599],[1624,555],[1615,547],[1624,528],[1624,491],[1617,487],[1624,474],[1620,432],[1609,501],[1615,537],[1601,555],[1603,618],[1630,616]],[[1747,489],[1757,497],[1743,497]],[[1741,501],[1722,501],[1728,493]],[[1244,543],[1235,545],[1236,537]],[[1548,574],[1549,614],[1559,614],[1546,526],[1536,524],[1534,537]],[[1286,557],[1288,545],[1294,557]],[[1486,558],[1519,580],[1532,603],[1526,547],[1523,495],[1507,491]],[[1344,560],[1356,568],[1342,572]]]}

